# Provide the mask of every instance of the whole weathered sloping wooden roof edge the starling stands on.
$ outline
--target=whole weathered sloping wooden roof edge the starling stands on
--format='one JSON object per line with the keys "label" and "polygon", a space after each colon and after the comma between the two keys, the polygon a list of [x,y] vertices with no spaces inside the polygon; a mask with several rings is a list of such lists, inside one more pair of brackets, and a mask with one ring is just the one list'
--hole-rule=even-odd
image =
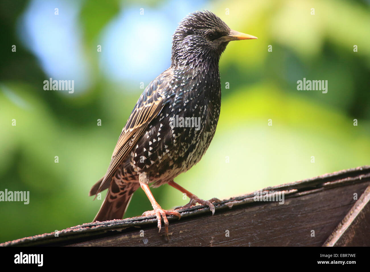
{"label": "whole weathered sloping wooden roof edge the starling stands on", "polygon": [[[164,228],[158,233],[157,220],[151,216],[87,223],[60,231],[58,237],[52,232],[0,245],[322,246],[356,203],[354,193],[360,197],[369,185],[366,166],[263,189],[285,192],[284,204],[256,202],[252,193],[222,201],[213,216],[208,207],[194,206],[182,210],[180,220],[169,217],[169,242]],[[359,235],[369,230],[367,198],[360,199],[360,216],[354,216],[356,225],[351,225],[354,235],[351,243],[343,245],[359,245]],[[370,245],[369,235],[361,245]]]}

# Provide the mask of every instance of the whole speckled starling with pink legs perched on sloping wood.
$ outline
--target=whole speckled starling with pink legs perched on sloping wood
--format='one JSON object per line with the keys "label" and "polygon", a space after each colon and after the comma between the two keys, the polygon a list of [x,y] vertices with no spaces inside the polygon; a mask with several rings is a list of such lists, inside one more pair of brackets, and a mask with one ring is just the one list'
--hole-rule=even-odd
{"label": "whole speckled starling with pink legs perched on sloping wood", "polygon": [[256,39],[231,30],[210,11],[196,11],[185,17],[172,36],[171,67],[153,80],[137,101],[122,130],[107,173],[90,190],[90,196],[108,188],[94,221],[122,219],[132,194],[141,187],[153,206],[143,215],[161,216],[168,234],[166,211],[155,201],[149,184],[162,184],[199,199],[174,182],[202,158],[216,131],[221,107],[219,59],[229,41]]}

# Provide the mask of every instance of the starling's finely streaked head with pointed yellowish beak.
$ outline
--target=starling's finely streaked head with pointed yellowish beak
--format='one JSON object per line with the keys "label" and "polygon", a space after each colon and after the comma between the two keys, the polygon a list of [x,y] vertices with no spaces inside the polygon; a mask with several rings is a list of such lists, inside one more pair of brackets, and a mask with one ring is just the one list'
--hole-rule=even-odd
{"label": "starling's finely streaked head with pointed yellowish beak", "polygon": [[172,65],[214,58],[219,60],[229,41],[257,37],[230,29],[210,11],[196,11],[185,17],[172,36]]}

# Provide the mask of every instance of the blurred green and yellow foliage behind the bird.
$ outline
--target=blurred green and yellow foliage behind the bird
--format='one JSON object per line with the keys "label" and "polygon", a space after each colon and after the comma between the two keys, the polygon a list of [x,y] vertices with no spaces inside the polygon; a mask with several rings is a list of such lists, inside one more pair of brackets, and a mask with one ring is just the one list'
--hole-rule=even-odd
{"label": "blurred green and yellow foliage behind the bird", "polygon": [[[129,83],[109,82],[98,69],[96,40],[119,10],[130,5],[123,3],[83,3],[79,23],[96,84],[71,98],[43,91],[47,75],[17,43],[16,19],[27,1],[1,1],[0,191],[30,191],[30,204],[0,202],[0,242],[90,222],[98,211],[101,200],[92,201],[88,191],[104,175],[142,92]],[[155,7],[155,2],[143,5]],[[203,8],[259,39],[232,42],[226,48],[220,72],[222,85],[229,82],[230,88],[222,90],[216,135],[201,162],[176,182],[203,199],[223,199],[369,164],[366,3],[232,0]],[[225,15],[226,8],[231,15]],[[19,44],[16,54],[11,52],[14,43]],[[328,80],[328,93],[297,91],[296,82],[303,77]],[[355,118],[358,126],[353,125]],[[269,119],[272,126],[267,125]],[[54,163],[56,155],[59,163]],[[152,191],[163,208],[188,202],[168,185]],[[138,190],[126,217],[149,209],[148,199]]]}

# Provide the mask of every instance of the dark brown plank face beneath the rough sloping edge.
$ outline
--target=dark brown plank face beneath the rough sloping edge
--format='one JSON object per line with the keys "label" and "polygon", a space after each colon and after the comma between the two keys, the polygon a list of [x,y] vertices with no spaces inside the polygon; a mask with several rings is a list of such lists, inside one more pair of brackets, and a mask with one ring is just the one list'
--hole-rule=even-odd
{"label": "dark brown plank face beneath the rough sloping edge", "polygon": [[[369,184],[369,183],[368,183]],[[170,223],[170,241],[155,228],[72,244],[74,246],[321,246],[355,202],[350,192],[366,184],[320,190],[285,204],[239,205]],[[341,199],[337,201],[336,195]],[[325,200],[325,201],[324,201]],[[253,203],[252,203],[253,204]],[[144,237],[140,236],[140,230]],[[226,237],[226,230],[230,236]],[[311,236],[314,230],[315,236]]]}

